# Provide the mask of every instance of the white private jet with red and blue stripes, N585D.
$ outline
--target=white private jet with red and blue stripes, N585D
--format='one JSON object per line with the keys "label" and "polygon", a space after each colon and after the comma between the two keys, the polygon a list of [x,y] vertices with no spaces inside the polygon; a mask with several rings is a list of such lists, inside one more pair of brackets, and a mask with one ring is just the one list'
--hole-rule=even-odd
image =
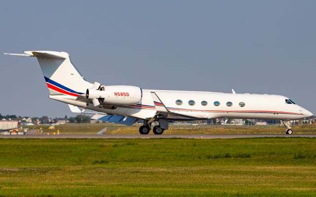
{"label": "white private jet with red and blue stripes, N585D", "polygon": [[[135,86],[106,86],[86,81],[72,64],[68,53],[25,51],[8,54],[36,57],[49,90],[49,98],[67,103],[72,112],[97,111],[92,119],[123,125],[143,120],[141,134],[148,134],[152,122],[155,134],[168,129],[168,122],[214,118],[281,120],[292,134],[290,120],[313,114],[293,100],[279,95],[215,92],[143,90]],[[80,108],[81,109],[80,109]]]}

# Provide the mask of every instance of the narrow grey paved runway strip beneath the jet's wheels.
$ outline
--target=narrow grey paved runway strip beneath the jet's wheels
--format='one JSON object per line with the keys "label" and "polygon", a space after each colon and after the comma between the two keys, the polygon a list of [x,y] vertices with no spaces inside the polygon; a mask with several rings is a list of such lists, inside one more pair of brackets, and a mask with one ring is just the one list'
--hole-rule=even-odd
{"label": "narrow grey paved runway strip beneath the jet's wheels", "polygon": [[163,134],[163,135],[141,135],[141,134],[104,134],[104,135],[0,135],[0,138],[88,138],[88,139],[149,139],[149,138],[192,138],[192,139],[232,139],[232,138],[253,138],[253,137],[316,137],[316,134],[217,134],[217,135],[209,135],[209,134]]}

